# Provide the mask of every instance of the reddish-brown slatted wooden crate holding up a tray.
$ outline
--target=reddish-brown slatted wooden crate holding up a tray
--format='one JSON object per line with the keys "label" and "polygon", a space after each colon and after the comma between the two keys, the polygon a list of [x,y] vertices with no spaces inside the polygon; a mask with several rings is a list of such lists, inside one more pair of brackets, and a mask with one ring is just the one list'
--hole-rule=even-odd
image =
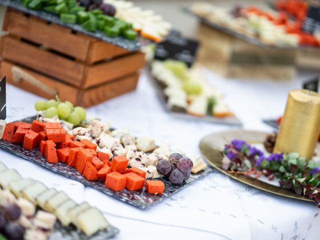
{"label": "reddish-brown slatted wooden crate holding up a tray", "polygon": [[[9,83],[47,98],[52,97],[48,93],[57,91],[63,99],[90,106],[135,89],[138,70],[144,66],[139,51],[130,52],[12,9],[6,12],[3,30],[8,34],[0,39],[1,75],[6,74]],[[15,73],[10,66],[15,66]],[[18,81],[12,78],[17,74],[27,76]],[[33,83],[45,81],[55,90],[45,93],[44,85],[34,90],[30,79]],[[90,100],[83,99],[90,94]]]}

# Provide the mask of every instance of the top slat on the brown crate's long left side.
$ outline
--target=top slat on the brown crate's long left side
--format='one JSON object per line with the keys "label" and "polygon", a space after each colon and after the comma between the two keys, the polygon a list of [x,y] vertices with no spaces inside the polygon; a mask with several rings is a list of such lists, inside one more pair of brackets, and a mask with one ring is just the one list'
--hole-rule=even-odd
{"label": "top slat on the brown crate's long left side", "polygon": [[71,33],[69,28],[56,24],[47,24],[36,17],[27,17],[17,11],[10,11],[7,21],[7,31],[38,44],[85,60],[88,54],[90,40]]}

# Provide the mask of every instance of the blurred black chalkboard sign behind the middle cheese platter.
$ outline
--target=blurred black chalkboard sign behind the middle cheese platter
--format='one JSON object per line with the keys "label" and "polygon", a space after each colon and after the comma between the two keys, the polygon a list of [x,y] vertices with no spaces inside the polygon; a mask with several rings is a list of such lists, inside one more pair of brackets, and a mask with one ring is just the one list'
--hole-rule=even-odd
{"label": "blurred black chalkboard sign behind the middle cheese platter", "polygon": [[157,44],[154,58],[158,60],[174,59],[184,61],[188,67],[195,60],[199,42],[182,37],[179,33],[172,34],[165,41]]}

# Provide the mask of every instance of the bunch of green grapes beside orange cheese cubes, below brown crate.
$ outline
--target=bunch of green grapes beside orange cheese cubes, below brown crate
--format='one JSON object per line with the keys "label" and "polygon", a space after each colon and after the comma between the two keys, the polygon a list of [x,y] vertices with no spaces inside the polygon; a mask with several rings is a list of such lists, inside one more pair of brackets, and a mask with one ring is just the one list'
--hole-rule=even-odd
{"label": "bunch of green grapes beside orange cheese cubes, below brown crate", "polygon": [[66,120],[74,125],[78,125],[86,116],[86,111],[83,107],[73,107],[71,102],[62,102],[58,97],[47,101],[38,100],[35,102],[34,108],[37,111],[44,110],[44,117],[51,118],[56,115],[59,119]]}

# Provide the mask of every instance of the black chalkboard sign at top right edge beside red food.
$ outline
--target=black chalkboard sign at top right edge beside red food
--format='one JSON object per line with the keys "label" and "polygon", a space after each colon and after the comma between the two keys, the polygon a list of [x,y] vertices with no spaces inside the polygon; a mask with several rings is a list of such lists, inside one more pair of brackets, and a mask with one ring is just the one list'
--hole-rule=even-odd
{"label": "black chalkboard sign at top right edge beside red food", "polygon": [[313,34],[320,33],[320,6],[309,6],[307,15],[303,22],[303,31]]}

